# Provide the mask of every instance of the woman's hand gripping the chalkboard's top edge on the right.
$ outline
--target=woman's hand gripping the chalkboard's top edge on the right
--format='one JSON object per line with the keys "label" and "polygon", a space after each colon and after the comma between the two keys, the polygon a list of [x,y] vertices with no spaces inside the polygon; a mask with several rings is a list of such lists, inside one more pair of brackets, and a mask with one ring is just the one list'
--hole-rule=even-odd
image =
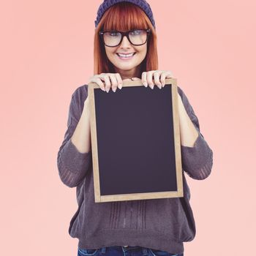
{"label": "woman's hand gripping the chalkboard's top edge on the right", "polygon": [[[154,83],[162,89],[165,87],[165,78],[173,78],[173,73],[167,70],[151,70],[145,71],[141,75],[141,82],[145,87],[154,89]],[[139,80],[140,78],[132,78],[132,80]],[[153,83],[154,79],[154,83]]]}

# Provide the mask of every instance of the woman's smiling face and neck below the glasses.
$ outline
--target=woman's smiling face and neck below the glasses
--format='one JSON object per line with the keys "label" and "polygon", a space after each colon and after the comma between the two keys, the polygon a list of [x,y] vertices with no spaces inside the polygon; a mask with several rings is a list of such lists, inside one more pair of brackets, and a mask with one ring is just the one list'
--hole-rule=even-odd
{"label": "woman's smiling face and neck below the glasses", "polygon": [[[132,45],[127,37],[124,37],[120,45],[108,47],[105,51],[110,62],[114,65],[116,72],[120,73],[121,78],[135,78],[140,72],[140,64],[145,59],[147,53],[147,43],[144,45]],[[121,57],[118,53],[135,53],[132,57]]]}

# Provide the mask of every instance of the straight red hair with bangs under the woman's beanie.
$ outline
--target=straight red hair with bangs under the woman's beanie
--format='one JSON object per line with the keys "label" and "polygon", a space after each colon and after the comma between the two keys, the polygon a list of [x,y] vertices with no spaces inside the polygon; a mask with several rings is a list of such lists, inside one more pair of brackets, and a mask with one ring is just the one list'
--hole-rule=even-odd
{"label": "straight red hair with bangs under the woman's beanie", "polygon": [[157,34],[146,13],[135,4],[120,2],[110,7],[100,20],[94,34],[94,75],[114,73],[113,64],[105,53],[105,45],[99,38],[99,31],[131,29],[151,29],[147,42],[146,58],[140,64],[140,77],[142,72],[158,69]]}

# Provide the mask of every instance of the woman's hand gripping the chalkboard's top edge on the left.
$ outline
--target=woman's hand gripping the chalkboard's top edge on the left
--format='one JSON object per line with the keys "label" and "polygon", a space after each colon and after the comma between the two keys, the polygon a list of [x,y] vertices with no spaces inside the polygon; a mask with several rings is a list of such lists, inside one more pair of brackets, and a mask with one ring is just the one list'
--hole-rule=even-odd
{"label": "woman's hand gripping the chalkboard's top edge on the left", "polygon": [[[105,82],[105,84],[103,83]],[[119,73],[101,73],[90,78],[89,83],[97,83],[102,91],[109,91],[110,87],[115,92],[117,87],[122,89],[123,82]]]}

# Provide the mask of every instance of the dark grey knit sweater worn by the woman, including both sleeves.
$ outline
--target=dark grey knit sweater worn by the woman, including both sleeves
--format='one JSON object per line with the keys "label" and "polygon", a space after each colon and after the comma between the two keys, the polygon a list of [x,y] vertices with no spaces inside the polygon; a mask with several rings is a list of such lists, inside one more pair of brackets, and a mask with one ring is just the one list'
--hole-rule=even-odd
{"label": "dark grey knit sweater worn by the woman, including both sleeves", "polygon": [[88,86],[83,85],[72,94],[67,131],[57,159],[61,181],[68,187],[76,187],[78,210],[69,223],[69,235],[78,238],[78,246],[86,249],[130,245],[184,252],[183,243],[192,241],[196,232],[184,172],[191,178],[203,180],[213,165],[213,152],[200,132],[197,116],[186,95],[178,86],[178,94],[199,136],[194,147],[181,146],[184,197],[95,203],[91,151],[80,153],[70,140],[87,91]]}

